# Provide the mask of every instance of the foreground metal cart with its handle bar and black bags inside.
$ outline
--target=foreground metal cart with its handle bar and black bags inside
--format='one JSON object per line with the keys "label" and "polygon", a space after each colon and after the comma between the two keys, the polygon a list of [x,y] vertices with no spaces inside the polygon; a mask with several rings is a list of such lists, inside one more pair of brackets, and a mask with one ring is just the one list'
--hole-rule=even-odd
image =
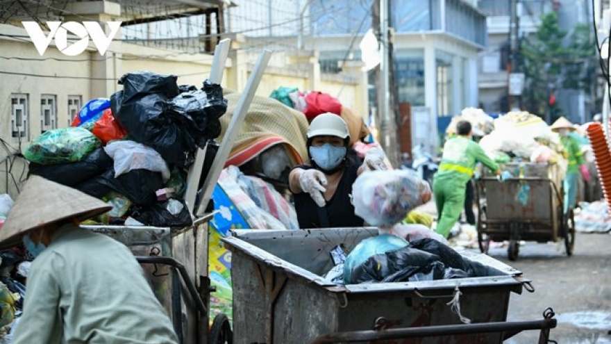
{"label": "foreground metal cart with its handle bar and black bags inside", "polygon": [[[395,261],[401,254],[418,256],[417,266],[396,274],[397,281],[373,280],[377,264],[392,270],[386,254],[342,284],[329,276],[341,252],[389,234],[378,235],[374,227],[232,234],[223,241],[232,252],[237,344],[502,343],[524,330],[539,330],[539,343],[548,343],[556,325],[551,309],[541,320],[506,321],[510,294],[533,292],[530,281],[490,256],[459,254],[433,239],[395,252]],[[444,268],[450,265],[464,270]]]}

